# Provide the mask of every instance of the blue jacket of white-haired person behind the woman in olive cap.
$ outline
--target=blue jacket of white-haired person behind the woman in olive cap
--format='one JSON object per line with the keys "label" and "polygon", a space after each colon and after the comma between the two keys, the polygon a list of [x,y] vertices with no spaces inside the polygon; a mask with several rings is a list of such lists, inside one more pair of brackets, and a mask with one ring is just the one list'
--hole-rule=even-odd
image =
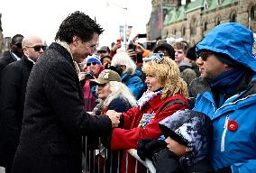
{"label": "blue jacket of white-haired person behind the woman in olive cap", "polygon": [[141,76],[142,72],[136,70],[133,75],[128,75],[127,73],[124,73],[121,77],[123,84],[129,87],[133,96],[135,96],[137,100],[142,96],[142,89],[144,87]]}

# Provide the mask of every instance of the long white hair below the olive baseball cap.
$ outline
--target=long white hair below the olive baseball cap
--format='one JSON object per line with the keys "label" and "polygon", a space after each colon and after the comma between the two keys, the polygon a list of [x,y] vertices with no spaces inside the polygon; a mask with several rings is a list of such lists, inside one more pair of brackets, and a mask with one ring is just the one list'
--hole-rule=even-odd
{"label": "long white hair below the olive baseball cap", "polygon": [[103,103],[103,107],[108,106],[114,98],[121,97],[124,100],[128,101],[130,105],[136,106],[137,101],[131,91],[129,90],[128,87],[126,87],[122,82],[117,82],[117,81],[110,81],[110,95],[108,95],[105,98],[105,101]]}

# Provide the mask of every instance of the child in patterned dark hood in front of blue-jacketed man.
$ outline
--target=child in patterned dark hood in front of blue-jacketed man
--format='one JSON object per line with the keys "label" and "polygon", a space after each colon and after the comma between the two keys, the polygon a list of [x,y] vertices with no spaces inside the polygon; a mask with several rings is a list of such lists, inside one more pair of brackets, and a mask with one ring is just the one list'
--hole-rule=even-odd
{"label": "child in patterned dark hood in front of blue-jacketed man", "polygon": [[159,123],[163,140],[139,141],[141,159],[152,160],[158,173],[211,173],[208,161],[211,120],[206,114],[178,111]]}

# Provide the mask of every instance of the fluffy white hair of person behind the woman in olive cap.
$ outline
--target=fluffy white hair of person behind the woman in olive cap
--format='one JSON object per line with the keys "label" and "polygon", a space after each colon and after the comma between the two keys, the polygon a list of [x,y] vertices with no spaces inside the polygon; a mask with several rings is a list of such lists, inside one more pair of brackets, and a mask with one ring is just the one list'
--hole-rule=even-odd
{"label": "fluffy white hair of person behind the woman in olive cap", "polygon": [[114,55],[111,66],[120,66],[125,65],[126,69],[123,73],[128,73],[129,75],[133,75],[136,70],[136,64],[134,63],[133,59],[128,56],[125,52],[118,52]]}

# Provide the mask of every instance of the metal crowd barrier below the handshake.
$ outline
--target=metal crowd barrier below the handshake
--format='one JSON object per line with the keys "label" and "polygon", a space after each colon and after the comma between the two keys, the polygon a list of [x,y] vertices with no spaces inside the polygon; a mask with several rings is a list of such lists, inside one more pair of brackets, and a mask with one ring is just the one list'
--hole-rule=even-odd
{"label": "metal crowd barrier below the handshake", "polygon": [[[138,165],[143,165],[146,172],[155,173],[155,168],[150,159],[144,161],[137,155],[137,150],[122,150],[112,151],[105,149],[101,144],[101,139],[98,139],[98,143],[94,146],[94,149],[89,146],[90,139],[85,137],[84,139],[84,153],[83,153],[83,173],[119,173],[121,170],[121,161],[123,158],[123,152],[125,152],[125,172],[129,171],[129,155],[136,159],[134,173],[140,173]],[[141,164],[142,163],[142,164]]]}

